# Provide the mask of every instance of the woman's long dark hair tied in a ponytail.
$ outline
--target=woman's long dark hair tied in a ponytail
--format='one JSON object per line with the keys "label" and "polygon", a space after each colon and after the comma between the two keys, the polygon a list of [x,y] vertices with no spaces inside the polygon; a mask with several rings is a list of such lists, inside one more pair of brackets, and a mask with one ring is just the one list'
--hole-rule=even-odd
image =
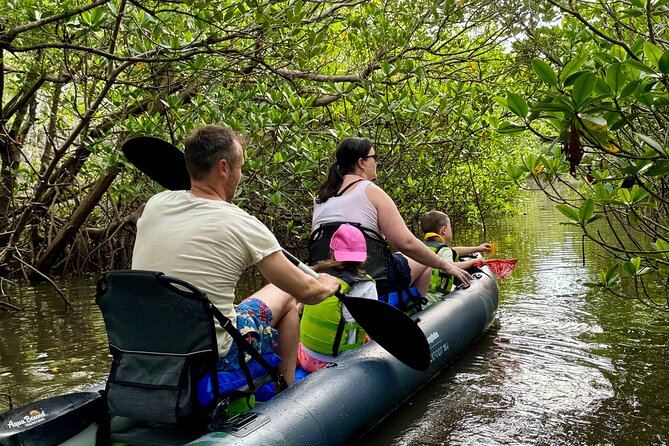
{"label": "woman's long dark hair tied in a ponytail", "polygon": [[367,138],[350,137],[340,142],[328,178],[316,194],[316,203],[325,203],[332,198],[339,191],[344,175],[353,172],[358,160],[367,156],[370,150],[372,141]]}

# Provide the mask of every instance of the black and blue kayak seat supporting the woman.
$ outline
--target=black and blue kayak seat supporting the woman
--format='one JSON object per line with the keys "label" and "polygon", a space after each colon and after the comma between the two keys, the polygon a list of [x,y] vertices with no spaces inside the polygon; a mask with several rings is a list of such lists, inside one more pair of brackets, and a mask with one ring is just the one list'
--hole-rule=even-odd
{"label": "black and blue kayak seat supporting the woman", "polygon": [[[395,275],[399,276],[399,268],[390,245],[383,235],[377,231],[367,228],[360,223],[331,222],[324,223],[318,227],[309,237],[309,261],[310,265],[321,260],[327,260],[330,255],[330,239],[332,234],[344,223],[355,226],[365,236],[367,244],[367,261],[364,268],[367,274],[376,282],[376,291],[379,300],[387,302],[408,315],[413,315],[422,309],[427,299],[420,296],[418,290],[413,287],[396,289],[388,280],[388,272],[394,269]],[[412,289],[413,288],[413,289]]]}

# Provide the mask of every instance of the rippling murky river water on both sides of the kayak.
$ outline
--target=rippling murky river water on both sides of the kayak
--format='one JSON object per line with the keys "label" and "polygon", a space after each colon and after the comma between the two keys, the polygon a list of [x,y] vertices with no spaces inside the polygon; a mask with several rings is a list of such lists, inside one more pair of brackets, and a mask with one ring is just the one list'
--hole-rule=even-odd
{"label": "rippling murky river water on both sides of the kayak", "polygon": [[[669,444],[669,314],[585,287],[605,268],[594,247],[583,267],[580,234],[543,195],[521,206],[523,215],[488,225],[496,257],[520,259],[500,281],[492,329],[359,444]],[[482,241],[457,224],[455,237]],[[0,314],[0,394],[15,406],[105,378],[94,283],[59,282],[74,312],[48,285],[3,283],[25,308]]]}

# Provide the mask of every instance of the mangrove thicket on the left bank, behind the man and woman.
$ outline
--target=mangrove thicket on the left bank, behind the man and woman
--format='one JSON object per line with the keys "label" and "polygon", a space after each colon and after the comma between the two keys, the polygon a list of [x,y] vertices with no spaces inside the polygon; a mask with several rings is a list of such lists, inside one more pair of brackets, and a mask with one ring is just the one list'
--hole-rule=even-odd
{"label": "mangrove thicket on the left bank, behind the man and woman", "polygon": [[247,135],[237,202],[289,246],[349,135],[375,141],[379,182],[410,224],[431,207],[471,220],[510,209],[503,166],[516,153],[488,129],[508,71],[510,18],[496,2],[7,0],[2,11],[4,275],[127,267],[155,186],[120,144],[180,145],[204,123]]}

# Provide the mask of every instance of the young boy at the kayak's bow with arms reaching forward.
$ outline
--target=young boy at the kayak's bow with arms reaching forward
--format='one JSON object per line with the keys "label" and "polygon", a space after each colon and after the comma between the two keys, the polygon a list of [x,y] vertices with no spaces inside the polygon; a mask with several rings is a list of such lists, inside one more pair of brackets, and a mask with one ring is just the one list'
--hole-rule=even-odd
{"label": "young boy at the kayak's bow with arms reaching forward", "polygon": [[[453,239],[453,230],[451,228],[451,219],[443,212],[430,211],[426,213],[420,223],[421,229],[425,234],[425,244],[432,251],[436,252],[447,262],[454,262],[456,266],[467,269],[475,263],[486,264],[483,257],[477,257],[470,260],[460,261],[460,256],[473,254],[476,252],[490,252],[492,246],[490,243],[482,243],[479,246],[449,246]],[[428,305],[438,302],[444,295],[451,292],[453,288],[453,276],[445,274],[438,269],[432,270],[430,286],[425,297]]]}

